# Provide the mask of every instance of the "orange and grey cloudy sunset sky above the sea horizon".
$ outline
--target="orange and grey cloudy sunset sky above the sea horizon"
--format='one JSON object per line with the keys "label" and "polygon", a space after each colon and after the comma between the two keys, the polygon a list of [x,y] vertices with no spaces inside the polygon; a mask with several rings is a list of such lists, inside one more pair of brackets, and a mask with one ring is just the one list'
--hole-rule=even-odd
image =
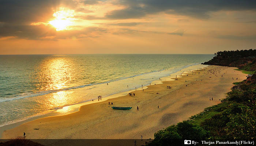
{"label": "orange and grey cloudy sunset sky above the sea horizon", "polygon": [[256,49],[255,0],[0,0],[0,54]]}

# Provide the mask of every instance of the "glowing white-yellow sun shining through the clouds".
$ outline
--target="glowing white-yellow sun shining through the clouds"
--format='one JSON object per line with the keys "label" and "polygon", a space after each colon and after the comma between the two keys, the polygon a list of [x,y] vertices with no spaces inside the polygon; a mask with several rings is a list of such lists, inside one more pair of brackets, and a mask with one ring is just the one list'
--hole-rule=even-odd
{"label": "glowing white-yellow sun shining through the clouds", "polygon": [[71,29],[70,26],[74,24],[74,10],[65,10],[65,8],[60,9],[60,11],[57,11],[53,14],[55,19],[49,21],[49,24],[55,27],[56,31],[69,30]]}

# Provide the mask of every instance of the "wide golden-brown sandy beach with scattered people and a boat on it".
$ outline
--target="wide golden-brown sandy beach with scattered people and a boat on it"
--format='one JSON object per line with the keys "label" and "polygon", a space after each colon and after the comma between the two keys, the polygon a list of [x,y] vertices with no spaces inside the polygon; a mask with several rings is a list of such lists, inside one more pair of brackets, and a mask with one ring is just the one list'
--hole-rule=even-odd
{"label": "wide golden-brown sandy beach with scattered people and a boat on it", "polygon": [[[221,103],[233,82],[246,79],[246,74],[234,69],[208,66],[188,76],[182,74],[178,80],[166,77],[167,81],[162,79],[163,84],[151,84],[144,91],[131,92],[135,96],[125,95],[83,105],[78,112],[36,119],[5,130],[1,139],[16,138],[23,132],[27,139],[140,139],[141,135],[143,139],[153,139],[158,130]],[[172,88],[167,89],[167,86]],[[113,110],[112,106],[132,109]]]}

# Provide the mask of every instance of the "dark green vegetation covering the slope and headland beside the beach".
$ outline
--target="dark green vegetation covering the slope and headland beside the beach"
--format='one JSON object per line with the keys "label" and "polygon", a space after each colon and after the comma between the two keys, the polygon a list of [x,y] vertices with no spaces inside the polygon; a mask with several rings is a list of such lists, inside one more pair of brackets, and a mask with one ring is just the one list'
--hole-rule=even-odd
{"label": "dark green vegetation covering the slope and headland beside the beach", "polygon": [[184,140],[252,141],[256,138],[256,50],[223,51],[215,55],[205,64],[239,67],[237,70],[253,75],[234,82],[222,103],[156,132],[148,146],[183,145]]}

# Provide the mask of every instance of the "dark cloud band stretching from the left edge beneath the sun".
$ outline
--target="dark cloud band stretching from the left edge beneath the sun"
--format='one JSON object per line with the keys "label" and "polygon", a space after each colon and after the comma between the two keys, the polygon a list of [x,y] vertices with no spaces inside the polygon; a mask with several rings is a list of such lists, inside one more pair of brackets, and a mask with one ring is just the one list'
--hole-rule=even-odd
{"label": "dark cloud band stretching from the left edge beneath the sun", "polygon": [[[31,40],[57,40],[70,38],[87,38],[98,37],[107,32],[106,29],[100,27],[86,27],[82,30],[65,30],[56,31],[56,28],[51,25],[4,25],[0,28],[1,37],[15,37],[17,39],[31,39]],[[49,38],[49,39],[48,39]]]}

